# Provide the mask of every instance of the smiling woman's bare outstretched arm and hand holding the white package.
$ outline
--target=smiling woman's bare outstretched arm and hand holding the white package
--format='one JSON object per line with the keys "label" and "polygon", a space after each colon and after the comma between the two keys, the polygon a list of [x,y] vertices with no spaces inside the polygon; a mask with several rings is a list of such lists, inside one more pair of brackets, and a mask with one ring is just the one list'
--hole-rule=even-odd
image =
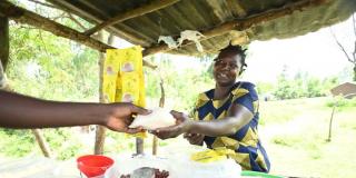
{"label": "smiling woman's bare outstretched arm and hand holding the white package", "polygon": [[157,129],[152,131],[154,135],[161,139],[174,138],[184,132],[210,137],[229,136],[247,125],[254,117],[247,108],[240,105],[233,105],[228,117],[220,120],[192,121],[181,112],[171,111],[171,115],[177,119],[177,125]]}

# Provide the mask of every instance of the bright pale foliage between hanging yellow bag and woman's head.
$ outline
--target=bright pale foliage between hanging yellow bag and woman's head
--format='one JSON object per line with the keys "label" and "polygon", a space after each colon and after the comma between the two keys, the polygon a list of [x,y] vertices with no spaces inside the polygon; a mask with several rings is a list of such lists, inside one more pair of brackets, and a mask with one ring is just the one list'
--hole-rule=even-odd
{"label": "bright pale foliage between hanging yellow bag and woman's head", "polygon": [[[159,83],[161,77],[165,86],[166,106],[186,112],[190,111],[198,93],[214,87],[211,75],[207,72],[210,65],[202,62],[201,69],[191,70],[187,68],[182,71],[177,71],[174,70],[175,66],[168,57],[167,55],[161,55],[150,59],[154,63],[159,63],[159,69],[155,71],[147,69],[145,71],[147,96],[154,100],[160,98]],[[158,101],[156,106],[158,106]]]}

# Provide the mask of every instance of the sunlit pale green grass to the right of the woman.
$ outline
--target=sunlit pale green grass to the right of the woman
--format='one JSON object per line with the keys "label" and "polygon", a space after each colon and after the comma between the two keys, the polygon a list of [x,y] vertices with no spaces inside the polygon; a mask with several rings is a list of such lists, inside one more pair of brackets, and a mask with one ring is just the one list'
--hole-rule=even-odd
{"label": "sunlit pale green grass to the right of the woman", "polygon": [[[296,177],[356,177],[356,107],[343,105],[334,116],[329,98],[265,102],[260,137],[271,160],[271,172]],[[276,107],[276,108],[275,108]],[[280,110],[280,111],[278,111]],[[274,115],[268,115],[274,112]],[[281,113],[278,116],[278,113]]]}

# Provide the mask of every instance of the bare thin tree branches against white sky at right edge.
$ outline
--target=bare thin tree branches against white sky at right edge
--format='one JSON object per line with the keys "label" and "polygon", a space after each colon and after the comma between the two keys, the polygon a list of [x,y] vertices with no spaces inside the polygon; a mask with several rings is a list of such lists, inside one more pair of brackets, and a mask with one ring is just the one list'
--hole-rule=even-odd
{"label": "bare thin tree branches against white sky at right edge", "polygon": [[353,73],[353,79],[354,81],[356,81],[356,20],[355,20],[355,14],[353,14],[352,17],[352,24],[353,24],[353,29],[354,29],[354,36],[355,36],[355,41],[354,41],[354,51],[352,53],[348,53],[345,46],[343,46],[340,43],[340,41],[336,38],[336,34],[334,33],[334,31],[330,28],[330,32],[337,43],[337,46],[340,48],[340,50],[344,52],[344,55],[346,56],[347,60],[353,63],[353,69],[354,69],[354,73]]}

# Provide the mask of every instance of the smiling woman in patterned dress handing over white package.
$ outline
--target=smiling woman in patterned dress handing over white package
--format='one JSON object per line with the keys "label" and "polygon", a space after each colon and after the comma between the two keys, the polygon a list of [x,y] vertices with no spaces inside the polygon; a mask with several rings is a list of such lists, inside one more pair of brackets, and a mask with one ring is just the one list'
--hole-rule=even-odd
{"label": "smiling woman in patterned dress handing over white package", "polygon": [[185,134],[194,145],[205,142],[210,149],[233,149],[234,158],[245,170],[268,172],[270,164],[257,135],[258,97],[250,82],[236,82],[244,71],[245,50],[239,46],[222,49],[214,63],[215,89],[199,95],[189,119],[177,111],[171,113],[177,125],[154,131],[159,138]]}

